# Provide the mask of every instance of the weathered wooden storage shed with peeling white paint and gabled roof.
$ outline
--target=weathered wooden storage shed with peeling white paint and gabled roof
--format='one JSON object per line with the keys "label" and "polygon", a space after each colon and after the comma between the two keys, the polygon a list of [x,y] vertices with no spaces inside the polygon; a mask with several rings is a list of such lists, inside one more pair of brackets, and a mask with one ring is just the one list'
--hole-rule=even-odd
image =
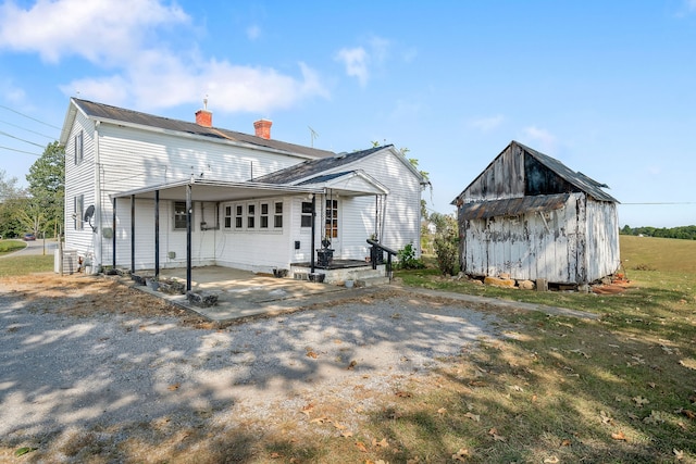
{"label": "weathered wooden storage shed with peeling white paint and gabled roof", "polygon": [[453,201],[471,276],[585,285],[620,266],[617,203],[606,185],[511,141]]}

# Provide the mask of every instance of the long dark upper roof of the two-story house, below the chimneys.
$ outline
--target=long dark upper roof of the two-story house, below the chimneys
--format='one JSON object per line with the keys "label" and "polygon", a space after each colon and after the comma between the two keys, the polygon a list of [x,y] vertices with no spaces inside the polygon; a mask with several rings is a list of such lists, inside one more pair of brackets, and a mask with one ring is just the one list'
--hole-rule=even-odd
{"label": "long dark upper roof of the two-story house, below the chimneys", "polygon": [[[76,109],[82,111],[87,117],[102,122],[113,123],[127,123],[140,127],[149,127],[164,130],[172,130],[182,134],[188,134],[194,136],[207,137],[211,140],[227,141],[251,145],[257,147],[269,148],[273,150],[279,150],[293,154],[300,154],[308,158],[326,158],[333,156],[334,153],[327,150],[319,150],[312,147],[304,147],[295,143],[288,143],[279,140],[265,139],[262,137],[252,136],[249,134],[238,133],[219,127],[206,127],[196,124],[195,122],[187,122],[181,120],[172,120],[169,117],[156,116],[148,113],[141,113],[139,111],[127,110],[124,108],[112,106],[103,103],[96,103],[94,101],[82,100],[77,98],[71,99]],[[65,116],[65,124],[63,124],[63,134],[61,134],[61,145],[65,145],[67,141],[70,127],[72,127],[71,118],[75,117],[73,105],[69,109]]]}

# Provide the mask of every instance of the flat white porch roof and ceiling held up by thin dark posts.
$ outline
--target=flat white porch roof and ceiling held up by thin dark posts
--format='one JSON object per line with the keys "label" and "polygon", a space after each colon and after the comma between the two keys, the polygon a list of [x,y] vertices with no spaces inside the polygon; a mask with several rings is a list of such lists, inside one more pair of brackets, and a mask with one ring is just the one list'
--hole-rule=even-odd
{"label": "flat white porch roof and ceiling held up by thin dark posts", "polygon": [[140,189],[112,193],[113,198],[129,198],[154,200],[154,192],[159,190],[160,200],[183,200],[186,198],[186,186],[191,186],[195,201],[234,201],[256,198],[277,197],[282,195],[323,193],[324,189],[316,186],[281,186],[249,181],[225,181],[209,179],[182,180],[162,184]]}

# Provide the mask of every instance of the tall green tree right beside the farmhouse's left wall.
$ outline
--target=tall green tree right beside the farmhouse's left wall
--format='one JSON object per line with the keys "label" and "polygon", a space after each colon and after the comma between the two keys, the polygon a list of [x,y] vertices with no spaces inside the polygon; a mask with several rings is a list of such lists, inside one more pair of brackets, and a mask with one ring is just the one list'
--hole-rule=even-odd
{"label": "tall green tree right beside the farmhouse's left wall", "polygon": [[29,167],[26,176],[29,183],[32,205],[22,221],[30,224],[35,233],[51,231],[55,236],[63,222],[65,198],[65,151],[58,141],[51,142],[44,154]]}

